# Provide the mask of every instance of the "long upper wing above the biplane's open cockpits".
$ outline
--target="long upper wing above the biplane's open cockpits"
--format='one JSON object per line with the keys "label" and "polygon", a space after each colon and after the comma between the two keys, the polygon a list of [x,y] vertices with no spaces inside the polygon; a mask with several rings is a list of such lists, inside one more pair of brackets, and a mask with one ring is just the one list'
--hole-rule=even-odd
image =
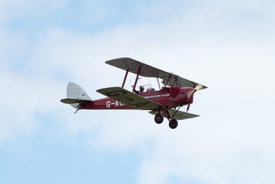
{"label": "long upper wing above the biplane's open cockpits", "polygon": [[[140,61],[133,60],[131,58],[117,58],[114,60],[107,60],[106,63],[120,69],[129,69],[130,72],[135,74],[137,74],[138,69],[141,67],[140,76],[148,78],[161,78],[162,80],[168,80],[168,78],[172,78],[172,80],[177,79],[177,87],[195,87],[198,84],[197,82],[192,82],[190,80],[181,78],[174,73],[169,73],[161,69],[151,67],[150,65],[146,65]],[[202,87],[202,89],[206,88],[207,87],[205,86]]]}

